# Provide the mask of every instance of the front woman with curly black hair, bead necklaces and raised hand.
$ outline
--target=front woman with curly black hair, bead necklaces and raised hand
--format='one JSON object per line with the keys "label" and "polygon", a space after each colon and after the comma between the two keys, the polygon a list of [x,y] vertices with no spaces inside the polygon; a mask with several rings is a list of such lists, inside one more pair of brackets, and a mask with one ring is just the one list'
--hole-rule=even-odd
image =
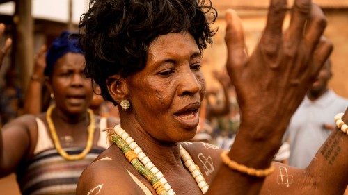
{"label": "front woman with curly black hair, bead necklaces and raised hand", "polygon": [[[90,1],[80,24],[86,73],[104,99],[120,105],[121,124],[109,132],[114,144],[82,173],[77,194],[342,193],[348,137],[338,130],[308,169],[271,163],[332,49],[318,44],[326,21],[317,6],[295,0],[283,34],[286,10],[285,0],[271,1],[250,58],[239,19],[226,13],[227,69],[242,115],[227,153],[185,142],[196,133],[205,93],[200,63],[215,32],[207,21],[214,8],[197,0]],[[319,53],[315,60],[313,53]]]}

